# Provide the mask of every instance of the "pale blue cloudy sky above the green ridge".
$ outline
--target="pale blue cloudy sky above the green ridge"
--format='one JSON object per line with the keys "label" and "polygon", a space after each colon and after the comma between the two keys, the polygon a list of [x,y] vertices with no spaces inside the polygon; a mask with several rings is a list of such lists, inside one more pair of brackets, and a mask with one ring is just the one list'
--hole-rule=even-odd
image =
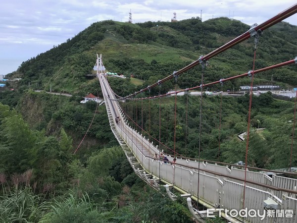
{"label": "pale blue cloudy sky above the green ridge", "polygon": [[[289,8],[294,0],[2,0],[0,6],[0,74],[71,39],[92,23],[230,17],[261,24]],[[297,25],[297,14],[285,21]]]}

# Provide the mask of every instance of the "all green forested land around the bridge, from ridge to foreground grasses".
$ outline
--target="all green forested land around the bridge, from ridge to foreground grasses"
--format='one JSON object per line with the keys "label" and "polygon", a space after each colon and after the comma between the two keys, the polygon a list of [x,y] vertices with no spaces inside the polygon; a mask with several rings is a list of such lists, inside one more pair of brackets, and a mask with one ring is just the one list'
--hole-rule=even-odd
{"label": "all green forested land around the bridge, from ridge to foreground grasses", "polygon": [[[102,54],[107,71],[127,76],[108,78],[114,92],[126,96],[248,29],[228,18],[139,24],[108,20],[20,64],[8,74],[8,78],[22,78],[10,83],[15,90],[0,92],[0,222],[192,222],[185,201],[169,201],[132,172],[110,130],[104,105],[80,104],[89,93],[101,96],[98,80],[86,75],[94,73],[96,54]],[[253,49],[251,38],[208,61],[204,83],[251,70]],[[260,37],[255,69],[293,59],[296,52],[297,27],[277,24]],[[197,66],[180,75],[177,83],[162,84],[160,91],[199,86],[200,74]],[[238,89],[249,83],[249,78],[240,78],[212,90]],[[297,66],[256,74],[254,84],[296,87]],[[50,90],[72,97],[46,93]],[[201,158],[231,164],[244,161],[246,142],[237,134],[247,130],[249,96],[220,100],[203,96]],[[178,97],[176,125],[174,97],[161,99],[160,126],[159,101],[140,103],[126,101],[121,106],[139,126],[149,129],[150,137],[158,138],[160,127],[161,141],[171,148],[176,127],[177,152],[198,157],[199,97]],[[289,166],[292,120],[293,102],[276,100],[270,92],[252,98],[248,165]],[[265,129],[257,131],[257,127]],[[292,166],[297,166],[296,142]]]}

